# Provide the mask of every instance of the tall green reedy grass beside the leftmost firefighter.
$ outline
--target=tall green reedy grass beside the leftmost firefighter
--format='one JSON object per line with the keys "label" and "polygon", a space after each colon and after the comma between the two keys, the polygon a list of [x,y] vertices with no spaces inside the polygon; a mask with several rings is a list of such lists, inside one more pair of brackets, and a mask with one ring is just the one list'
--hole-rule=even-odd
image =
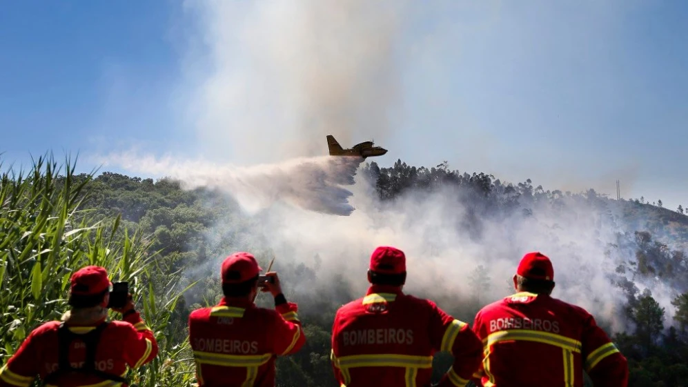
{"label": "tall green reedy grass beside the leftmost firefighter", "polygon": [[[153,362],[132,371],[132,386],[188,386],[194,369],[188,341],[170,324],[186,291],[176,286],[179,273],[166,272],[157,252],[149,251],[153,241],[140,230],[118,232],[119,216],[92,221],[80,208],[92,177],[77,178],[69,160],[62,168],[52,157],[40,157],[26,174],[1,175],[0,365],[32,329],[68,309],[72,272],[99,265],[112,281],[129,282],[160,347]],[[166,282],[166,290],[156,293],[162,287],[156,284]]]}

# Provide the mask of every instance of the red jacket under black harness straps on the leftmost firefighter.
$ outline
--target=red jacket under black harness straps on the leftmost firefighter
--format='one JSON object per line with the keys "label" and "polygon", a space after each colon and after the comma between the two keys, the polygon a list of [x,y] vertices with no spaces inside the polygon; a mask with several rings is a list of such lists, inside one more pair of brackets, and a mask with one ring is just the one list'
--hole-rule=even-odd
{"label": "red jacket under black harness straps on the leftmost firefighter", "polygon": [[[7,364],[0,369],[0,387],[28,387],[38,375],[45,378],[57,370],[59,349],[57,346],[57,328],[60,321],[47,322],[28,335],[19,350]],[[70,326],[73,333],[88,333],[94,326]],[[95,366],[108,374],[126,375],[126,367],[138,368],[157,356],[157,341],[153,331],[146,326],[139,315],[134,312],[124,317],[124,321],[110,321],[103,330],[95,354]],[[86,348],[81,341],[75,340],[69,347],[69,359],[72,367],[78,368],[86,359]],[[126,387],[94,375],[63,375],[57,384],[46,387]]]}

